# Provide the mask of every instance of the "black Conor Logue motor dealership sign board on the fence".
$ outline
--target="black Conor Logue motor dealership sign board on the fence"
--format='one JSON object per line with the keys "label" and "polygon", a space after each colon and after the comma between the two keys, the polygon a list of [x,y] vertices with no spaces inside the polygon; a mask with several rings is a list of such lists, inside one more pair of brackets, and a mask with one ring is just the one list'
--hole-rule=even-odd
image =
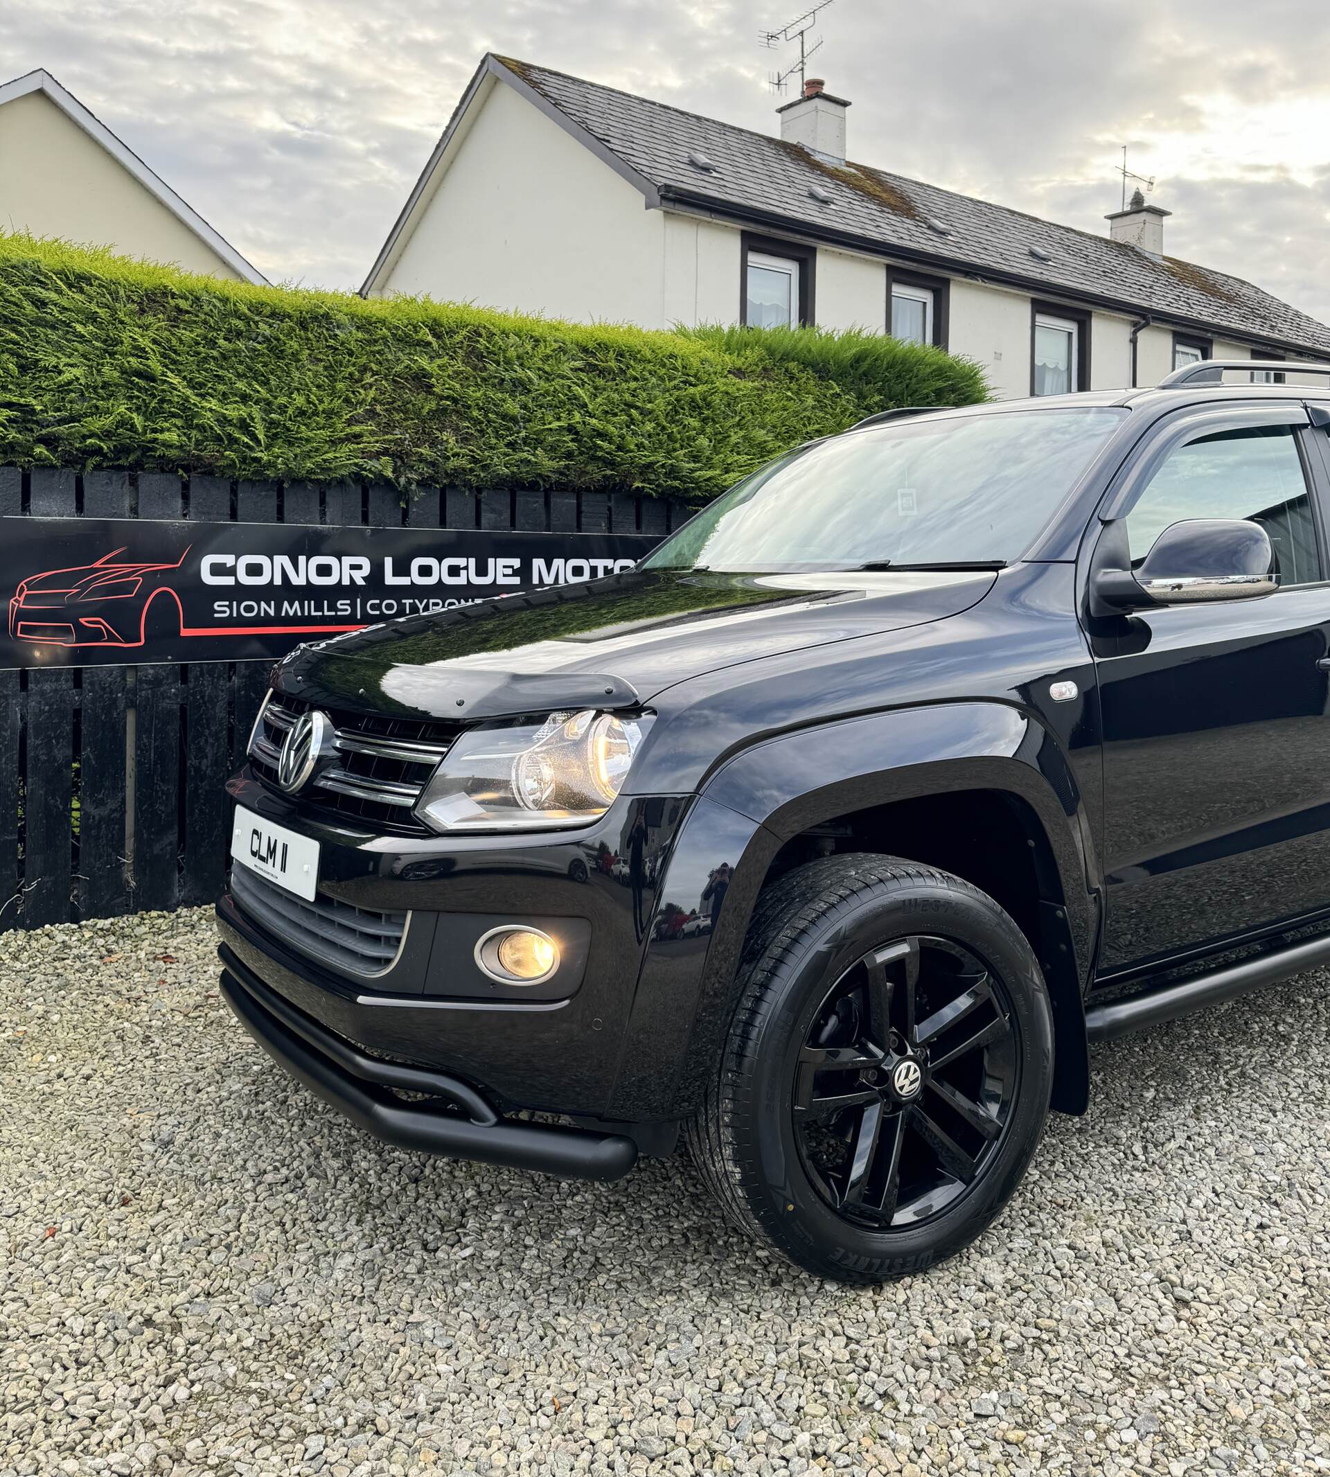
{"label": "black Conor Logue motor dealership sign board on the fence", "polygon": [[629,569],[654,538],[0,518],[0,668],[247,662]]}

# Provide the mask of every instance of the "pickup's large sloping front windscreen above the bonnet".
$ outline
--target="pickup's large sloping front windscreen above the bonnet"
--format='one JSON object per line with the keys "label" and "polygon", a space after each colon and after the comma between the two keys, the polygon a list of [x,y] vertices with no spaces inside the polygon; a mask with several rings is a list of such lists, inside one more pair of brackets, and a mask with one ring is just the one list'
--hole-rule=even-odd
{"label": "pickup's large sloping front windscreen above the bonnet", "polygon": [[1011,563],[1128,414],[1011,411],[818,442],[731,487],[642,567],[751,575]]}

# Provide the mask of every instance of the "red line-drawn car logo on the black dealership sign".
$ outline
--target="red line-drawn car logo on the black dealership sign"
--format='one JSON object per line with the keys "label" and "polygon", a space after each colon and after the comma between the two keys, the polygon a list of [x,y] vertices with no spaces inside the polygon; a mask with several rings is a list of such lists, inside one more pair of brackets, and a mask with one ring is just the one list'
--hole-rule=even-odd
{"label": "red line-drawn car logo on the black dealership sign", "polygon": [[10,640],[59,647],[140,647],[149,637],[189,634],[180,595],[168,583],[189,548],[174,563],[115,563],[125,548],[112,549],[93,564],[49,569],[21,579],[9,600]]}

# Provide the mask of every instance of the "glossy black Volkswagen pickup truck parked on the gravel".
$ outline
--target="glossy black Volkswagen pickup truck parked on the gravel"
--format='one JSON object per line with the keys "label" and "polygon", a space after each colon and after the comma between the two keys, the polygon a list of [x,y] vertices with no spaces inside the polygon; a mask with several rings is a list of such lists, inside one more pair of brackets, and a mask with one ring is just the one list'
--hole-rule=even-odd
{"label": "glossy black Volkswagen pickup truck parked on the gravel", "polygon": [[227,1001],[390,1143],[682,1131],[813,1273],[957,1251],[1089,1041],[1330,959],[1315,374],[889,412],[633,570],[294,651]]}

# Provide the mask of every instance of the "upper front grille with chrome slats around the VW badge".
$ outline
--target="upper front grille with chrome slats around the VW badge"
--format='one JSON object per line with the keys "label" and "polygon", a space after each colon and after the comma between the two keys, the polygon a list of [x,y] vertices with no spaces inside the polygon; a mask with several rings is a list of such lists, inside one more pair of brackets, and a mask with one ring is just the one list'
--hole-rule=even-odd
{"label": "upper front grille with chrome slats around the VW badge", "polygon": [[[254,772],[280,792],[278,756],[297,718],[313,705],[273,693],[249,746]],[[422,718],[387,718],[322,709],[337,728],[340,762],[316,775],[297,796],[303,808],[335,811],[371,823],[375,830],[428,835],[412,814],[430,775],[461,731],[456,724]]]}

